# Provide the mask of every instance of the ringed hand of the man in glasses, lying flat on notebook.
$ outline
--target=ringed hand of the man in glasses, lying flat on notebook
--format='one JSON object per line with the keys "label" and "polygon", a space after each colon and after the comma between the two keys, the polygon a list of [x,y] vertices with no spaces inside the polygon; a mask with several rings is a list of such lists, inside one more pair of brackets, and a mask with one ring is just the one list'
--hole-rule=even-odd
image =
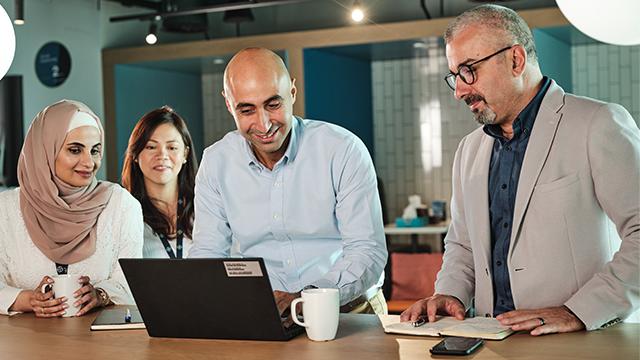
{"label": "ringed hand of the man in glasses, lying flat on notebook", "polygon": [[515,331],[531,330],[531,335],[572,332],[585,328],[584,323],[566,306],[513,310],[496,316],[496,319]]}

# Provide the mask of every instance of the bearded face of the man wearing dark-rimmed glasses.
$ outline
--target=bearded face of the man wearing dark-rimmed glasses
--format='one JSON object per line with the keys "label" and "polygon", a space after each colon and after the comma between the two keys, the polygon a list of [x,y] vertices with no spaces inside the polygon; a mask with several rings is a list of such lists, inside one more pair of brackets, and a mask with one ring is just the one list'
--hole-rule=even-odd
{"label": "bearded face of the man wearing dark-rimmed glasses", "polygon": [[[472,63],[510,45],[504,43],[506,40],[495,40],[498,37],[495,32],[495,29],[480,25],[461,29],[447,43],[449,70],[458,72],[460,65]],[[460,77],[456,78],[456,99],[469,106],[480,124],[502,124],[514,117],[514,95],[517,92],[509,61],[512,54],[513,49],[509,49],[473,66],[476,80],[471,85]]]}

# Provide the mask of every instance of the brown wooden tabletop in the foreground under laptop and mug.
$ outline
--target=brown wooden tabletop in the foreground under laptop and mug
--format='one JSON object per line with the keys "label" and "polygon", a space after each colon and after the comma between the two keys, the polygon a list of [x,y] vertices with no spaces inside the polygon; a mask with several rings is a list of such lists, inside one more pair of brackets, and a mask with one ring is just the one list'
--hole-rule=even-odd
{"label": "brown wooden tabletop in the foreground under laptop and mug", "polygon": [[[340,315],[336,340],[313,342],[305,335],[288,342],[150,338],[145,330],[89,330],[95,314],[37,319],[0,316],[0,358],[53,360],[183,359],[425,359],[439,339],[388,335],[375,315]],[[532,337],[515,334],[488,341],[467,359],[631,359],[640,357],[640,325]],[[437,358],[437,357],[436,357]],[[439,357],[443,358],[443,357]],[[445,357],[447,358],[447,357]]]}

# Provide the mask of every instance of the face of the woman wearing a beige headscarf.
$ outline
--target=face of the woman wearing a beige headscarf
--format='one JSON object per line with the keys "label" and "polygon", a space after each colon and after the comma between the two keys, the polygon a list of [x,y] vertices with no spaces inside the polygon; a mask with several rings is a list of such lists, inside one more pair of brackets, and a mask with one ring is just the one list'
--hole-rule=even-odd
{"label": "face of the woman wearing a beige headscarf", "polygon": [[100,131],[81,126],[67,133],[55,161],[56,176],[71,186],[91,184],[102,162]]}

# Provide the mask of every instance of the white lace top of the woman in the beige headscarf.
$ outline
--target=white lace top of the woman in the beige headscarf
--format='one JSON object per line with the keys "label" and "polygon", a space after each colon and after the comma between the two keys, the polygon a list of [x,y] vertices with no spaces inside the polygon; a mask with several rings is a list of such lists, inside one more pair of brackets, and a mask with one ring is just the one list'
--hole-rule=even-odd
{"label": "white lace top of the woman in the beige headscarf", "polygon": [[[70,264],[68,273],[85,275],[115,304],[133,304],[119,258],[142,257],[144,223],[138,201],[117,186],[98,218],[96,252]],[[31,241],[20,211],[20,189],[0,193],[0,314],[8,314],[22,290],[33,290],[56,264]]]}

